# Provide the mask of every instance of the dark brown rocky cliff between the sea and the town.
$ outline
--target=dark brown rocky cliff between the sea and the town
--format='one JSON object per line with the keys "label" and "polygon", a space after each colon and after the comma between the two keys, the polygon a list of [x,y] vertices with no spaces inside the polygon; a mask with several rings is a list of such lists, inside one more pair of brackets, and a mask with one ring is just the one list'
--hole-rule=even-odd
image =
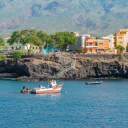
{"label": "dark brown rocky cliff between the sea and the town", "polygon": [[17,80],[128,78],[127,59],[102,59],[75,54],[46,54],[42,57],[0,61],[0,78]]}

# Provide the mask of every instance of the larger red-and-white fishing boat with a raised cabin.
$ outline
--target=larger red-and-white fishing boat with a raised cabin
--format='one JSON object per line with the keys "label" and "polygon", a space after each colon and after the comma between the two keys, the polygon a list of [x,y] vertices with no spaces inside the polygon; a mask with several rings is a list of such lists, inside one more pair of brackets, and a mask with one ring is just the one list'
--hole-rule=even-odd
{"label": "larger red-and-white fishing boat with a raised cabin", "polygon": [[46,93],[59,93],[61,91],[63,84],[57,85],[56,80],[48,81],[48,87],[42,87],[39,85],[39,88],[33,88],[31,93],[34,94],[46,94]]}

